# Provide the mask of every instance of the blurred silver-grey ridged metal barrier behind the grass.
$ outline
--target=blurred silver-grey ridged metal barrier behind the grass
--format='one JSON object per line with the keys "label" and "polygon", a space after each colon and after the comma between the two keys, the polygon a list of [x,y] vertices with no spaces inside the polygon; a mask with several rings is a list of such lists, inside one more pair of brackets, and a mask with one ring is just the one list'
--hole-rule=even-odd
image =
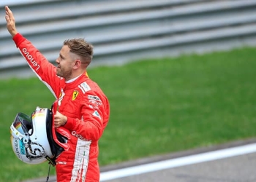
{"label": "blurred silver-grey ridged metal barrier behind the grass", "polygon": [[[91,66],[256,44],[256,0],[61,0],[10,7],[18,31],[51,62],[62,42],[75,37],[94,44]],[[4,17],[4,10],[0,15]],[[0,78],[32,74],[4,18],[0,47]]]}

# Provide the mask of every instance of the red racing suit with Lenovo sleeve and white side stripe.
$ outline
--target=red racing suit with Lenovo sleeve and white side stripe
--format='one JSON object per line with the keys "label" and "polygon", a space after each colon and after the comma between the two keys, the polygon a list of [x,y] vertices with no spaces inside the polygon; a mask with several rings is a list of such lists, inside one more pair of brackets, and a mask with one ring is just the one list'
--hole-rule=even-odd
{"label": "red racing suit with Lenovo sleeve and white side stripe", "polygon": [[56,67],[20,33],[13,41],[31,69],[56,97],[58,111],[67,116],[63,127],[71,134],[70,147],[56,159],[57,181],[99,181],[98,141],[108,124],[108,98],[86,72],[65,82],[56,76]]}

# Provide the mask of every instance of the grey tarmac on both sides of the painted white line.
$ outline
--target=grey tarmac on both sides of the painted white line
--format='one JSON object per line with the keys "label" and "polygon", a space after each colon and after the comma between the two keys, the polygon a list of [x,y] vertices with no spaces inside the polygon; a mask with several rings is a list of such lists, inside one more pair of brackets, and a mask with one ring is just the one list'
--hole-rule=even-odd
{"label": "grey tarmac on both sides of the painted white line", "polygon": [[[165,159],[176,159],[192,154],[200,154],[208,151],[227,149],[235,146],[243,146],[249,143],[256,143],[256,138],[244,141],[233,141],[218,146],[209,146],[200,149],[180,151],[177,153],[160,155],[155,157],[137,159],[134,161],[123,162],[118,165],[108,165],[101,167],[101,173],[110,170],[117,170],[124,167],[148,164]],[[125,178],[117,178],[108,182],[255,182],[256,181],[256,153],[245,154],[225,159],[217,159],[210,162],[202,162],[195,165],[175,167],[167,170],[159,170],[152,173],[132,175]],[[45,178],[31,179],[23,182],[45,182]],[[48,182],[56,182],[55,176],[50,176]]]}

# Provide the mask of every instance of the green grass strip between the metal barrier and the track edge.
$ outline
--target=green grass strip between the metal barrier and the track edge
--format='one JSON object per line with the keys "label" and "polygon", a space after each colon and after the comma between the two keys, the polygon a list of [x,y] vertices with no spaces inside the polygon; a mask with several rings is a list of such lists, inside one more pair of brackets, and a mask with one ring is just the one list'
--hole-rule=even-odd
{"label": "green grass strip between the metal barrier and the track edge", "polygon": [[[89,69],[111,108],[99,164],[254,138],[255,68],[255,48],[244,48]],[[0,93],[1,180],[46,177],[47,163],[15,157],[9,128],[15,114],[49,108],[53,96],[37,78],[0,81]]]}

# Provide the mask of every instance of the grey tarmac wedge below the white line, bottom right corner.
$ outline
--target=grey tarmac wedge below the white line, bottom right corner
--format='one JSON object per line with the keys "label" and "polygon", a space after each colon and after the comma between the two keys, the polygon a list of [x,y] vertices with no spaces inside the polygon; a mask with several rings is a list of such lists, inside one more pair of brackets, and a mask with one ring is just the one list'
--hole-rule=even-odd
{"label": "grey tarmac wedge below the white line, bottom right corner", "polygon": [[255,182],[256,153],[159,170],[108,182]]}

